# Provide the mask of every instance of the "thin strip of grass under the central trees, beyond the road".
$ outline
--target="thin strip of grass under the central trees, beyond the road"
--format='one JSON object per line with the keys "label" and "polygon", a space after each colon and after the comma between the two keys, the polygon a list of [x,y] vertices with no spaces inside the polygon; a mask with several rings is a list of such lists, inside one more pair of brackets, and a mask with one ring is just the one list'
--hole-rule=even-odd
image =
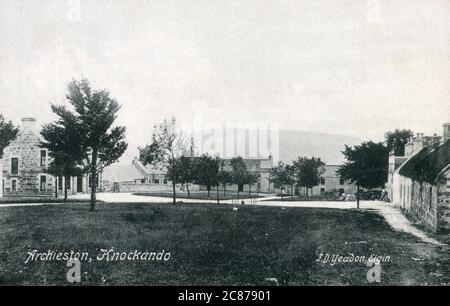
{"label": "thin strip of grass under the central trees, beyond the road", "polygon": [[[164,197],[164,198],[172,198],[172,196],[173,196],[171,192],[136,192],[133,194],[140,195],[140,196]],[[256,193],[252,193],[251,195],[249,195],[248,192],[240,192],[239,193],[239,199],[248,199],[250,196],[253,198],[262,198],[261,195],[257,196]],[[188,196],[187,192],[177,192],[177,199],[216,200],[217,192],[215,190],[211,190],[209,196],[208,196],[207,191],[194,191],[194,192],[191,192],[190,196]],[[227,192],[225,192],[225,195],[224,195],[223,191],[220,191],[219,199],[220,200],[237,199],[237,193],[227,191]]]}

